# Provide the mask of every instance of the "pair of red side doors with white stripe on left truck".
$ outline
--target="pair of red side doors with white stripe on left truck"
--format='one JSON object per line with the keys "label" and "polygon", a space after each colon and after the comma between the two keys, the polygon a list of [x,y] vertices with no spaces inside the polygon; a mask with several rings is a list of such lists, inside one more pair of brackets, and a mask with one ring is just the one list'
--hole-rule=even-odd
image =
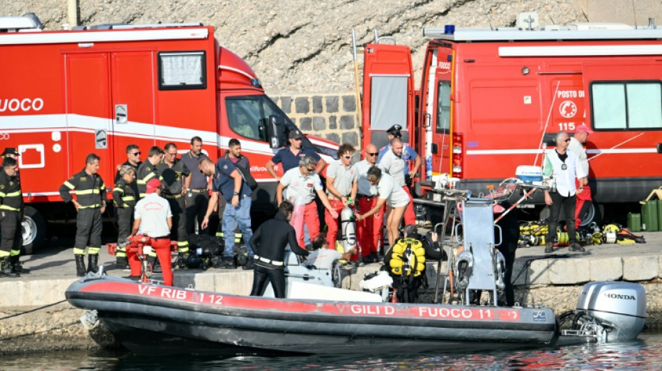
{"label": "pair of red side doors with white stripe on left truck", "polygon": [[66,54],[69,150],[77,154],[70,156],[70,174],[93,152],[111,187],[127,145],[146,154],[155,144],[152,63],[149,51]]}

